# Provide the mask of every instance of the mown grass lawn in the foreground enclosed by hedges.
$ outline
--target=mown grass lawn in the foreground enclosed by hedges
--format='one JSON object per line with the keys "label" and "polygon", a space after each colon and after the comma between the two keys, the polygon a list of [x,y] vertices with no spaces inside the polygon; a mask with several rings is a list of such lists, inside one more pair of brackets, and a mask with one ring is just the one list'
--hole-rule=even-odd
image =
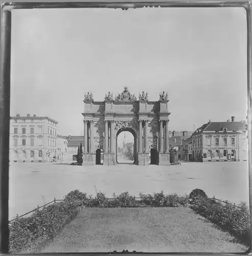
{"label": "mown grass lawn in the foreground enclosed by hedges", "polygon": [[244,252],[189,208],[84,208],[41,252]]}

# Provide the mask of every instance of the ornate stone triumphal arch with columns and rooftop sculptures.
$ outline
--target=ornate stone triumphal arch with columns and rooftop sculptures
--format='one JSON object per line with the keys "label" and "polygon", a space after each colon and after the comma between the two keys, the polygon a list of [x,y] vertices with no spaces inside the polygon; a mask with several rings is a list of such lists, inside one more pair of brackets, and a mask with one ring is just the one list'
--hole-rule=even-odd
{"label": "ornate stone triumphal arch with columns and rooftop sculptures", "polygon": [[85,94],[83,165],[101,164],[101,156],[104,165],[117,164],[117,137],[123,131],[134,136],[134,164],[169,165],[168,101],[164,91],[158,101],[148,101],[147,93],[137,99],[127,87],[115,97],[108,92],[104,101]]}

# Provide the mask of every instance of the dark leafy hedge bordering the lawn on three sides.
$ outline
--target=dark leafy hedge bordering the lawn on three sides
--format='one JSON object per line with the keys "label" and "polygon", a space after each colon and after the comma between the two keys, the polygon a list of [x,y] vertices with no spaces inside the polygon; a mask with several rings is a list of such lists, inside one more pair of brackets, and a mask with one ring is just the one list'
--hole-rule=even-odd
{"label": "dark leafy hedge bordering the lawn on three sides", "polygon": [[105,194],[97,193],[96,197],[87,196],[79,190],[71,191],[60,203],[37,209],[27,218],[17,218],[10,222],[10,252],[36,251],[54,237],[78,214],[83,207],[179,207],[190,206],[198,214],[210,221],[229,227],[232,233],[243,236],[249,230],[249,209],[245,203],[241,209],[231,205],[222,205],[208,199],[201,189],[194,189],[189,196],[177,194],[139,195],[140,200],[129,195],[128,192],[119,196],[114,194],[108,199]]}

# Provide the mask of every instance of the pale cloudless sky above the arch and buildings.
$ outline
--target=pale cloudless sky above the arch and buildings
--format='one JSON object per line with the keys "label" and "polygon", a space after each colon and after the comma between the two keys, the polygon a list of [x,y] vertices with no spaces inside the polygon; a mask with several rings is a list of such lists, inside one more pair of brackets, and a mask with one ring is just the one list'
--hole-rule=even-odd
{"label": "pale cloudless sky above the arch and buildings", "polygon": [[85,92],[125,86],[168,92],[171,131],[246,118],[242,8],[14,10],[11,51],[11,116],[48,116],[60,135],[83,135]]}

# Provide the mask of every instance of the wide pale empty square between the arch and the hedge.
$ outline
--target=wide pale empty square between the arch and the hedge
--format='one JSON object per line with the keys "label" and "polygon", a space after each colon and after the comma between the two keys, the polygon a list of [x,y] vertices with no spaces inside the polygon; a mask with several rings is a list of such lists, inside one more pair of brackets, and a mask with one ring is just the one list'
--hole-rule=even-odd
{"label": "wide pale empty square between the arch and the hedge", "polygon": [[71,190],[88,195],[95,191],[112,197],[123,191],[138,197],[160,192],[189,194],[194,188],[204,189],[234,203],[248,202],[247,162],[182,163],[176,166],[72,166],[46,163],[15,163],[10,166],[9,219],[22,215],[37,205],[61,199]]}

